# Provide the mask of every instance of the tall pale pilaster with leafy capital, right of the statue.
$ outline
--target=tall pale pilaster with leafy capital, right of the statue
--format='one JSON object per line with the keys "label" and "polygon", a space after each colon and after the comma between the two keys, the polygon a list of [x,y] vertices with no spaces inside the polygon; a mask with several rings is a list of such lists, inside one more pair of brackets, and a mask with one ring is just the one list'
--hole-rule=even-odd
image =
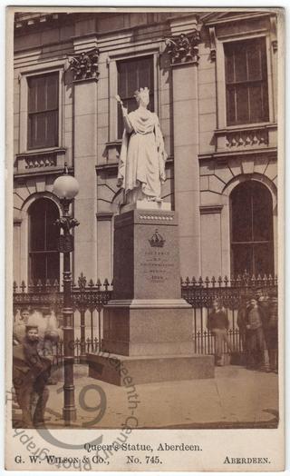
{"label": "tall pale pilaster with leafy capital, right of the statue", "polygon": [[172,21],[166,39],[173,84],[174,187],[179,212],[181,276],[200,273],[198,180],[198,19]]}

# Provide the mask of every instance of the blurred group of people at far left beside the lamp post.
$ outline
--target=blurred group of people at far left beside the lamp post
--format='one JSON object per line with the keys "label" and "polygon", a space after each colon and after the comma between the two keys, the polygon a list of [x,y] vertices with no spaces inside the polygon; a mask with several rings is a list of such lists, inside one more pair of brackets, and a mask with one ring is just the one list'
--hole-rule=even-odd
{"label": "blurred group of people at far left beside the lamp post", "polygon": [[53,345],[59,330],[51,312],[23,309],[13,328],[13,384],[22,411],[22,427],[36,428],[44,423],[52,377]]}

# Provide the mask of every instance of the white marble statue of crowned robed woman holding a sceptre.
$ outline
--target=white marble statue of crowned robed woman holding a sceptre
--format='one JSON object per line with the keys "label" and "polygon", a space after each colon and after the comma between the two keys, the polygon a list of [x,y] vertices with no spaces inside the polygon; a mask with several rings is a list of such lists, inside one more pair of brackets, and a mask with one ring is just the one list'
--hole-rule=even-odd
{"label": "white marble statue of crowned robed woman holding a sceptre", "polygon": [[163,136],[157,114],[151,113],[149,89],[140,88],[135,98],[138,107],[128,114],[121,102],[124,132],[118,172],[118,186],[125,191],[125,203],[161,202],[161,183],[165,181]]}

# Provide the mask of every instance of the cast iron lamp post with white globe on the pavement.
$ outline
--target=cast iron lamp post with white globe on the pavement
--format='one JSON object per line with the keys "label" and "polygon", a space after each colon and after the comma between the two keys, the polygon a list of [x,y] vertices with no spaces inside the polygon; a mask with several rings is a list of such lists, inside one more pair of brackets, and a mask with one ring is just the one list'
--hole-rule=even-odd
{"label": "cast iron lamp post with white globe on the pavement", "polygon": [[[71,230],[79,222],[70,215],[70,205],[79,192],[79,183],[68,174],[64,164],[63,175],[55,179],[53,193],[60,199],[63,216],[55,224],[60,228],[59,251],[63,253],[63,361],[64,361],[64,404],[63,420],[66,426],[76,420],[73,385],[74,329],[72,305],[71,253],[73,252],[73,234]],[[63,233],[62,233],[63,231]]]}

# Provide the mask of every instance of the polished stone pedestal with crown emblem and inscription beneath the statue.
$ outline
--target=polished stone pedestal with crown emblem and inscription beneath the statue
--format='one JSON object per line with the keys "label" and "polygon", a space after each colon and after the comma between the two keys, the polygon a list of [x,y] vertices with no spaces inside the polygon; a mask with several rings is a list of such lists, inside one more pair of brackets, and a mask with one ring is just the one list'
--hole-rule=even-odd
{"label": "polished stone pedestal with crown emblem and inscription beneath the statue", "polygon": [[192,308],[181,299],[177,213],[135,208],[115,217],[113,299],[104,309],[102,352],[90,375],[122,385],[214,376],[195,355]]}

